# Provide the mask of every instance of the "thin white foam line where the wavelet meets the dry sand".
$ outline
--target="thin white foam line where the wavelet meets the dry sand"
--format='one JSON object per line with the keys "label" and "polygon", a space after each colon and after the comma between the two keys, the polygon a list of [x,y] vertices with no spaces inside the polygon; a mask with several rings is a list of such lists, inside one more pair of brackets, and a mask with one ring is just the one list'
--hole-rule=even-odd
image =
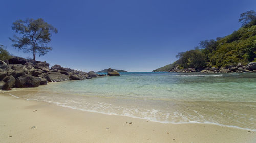
{"label": "thin white foam line where the wavelet meets the dry sand", "polygon": [[[224,124],[220,124],[220,123],[216,123],[216,122],[209,122],[209,121],[205,121],[205,122],[198,122],[198,121],[172,122],[172,121],[167,121],[167,118],[166,118],[165,121],[160,121],[160,120],[157,120],[155,116],[153,116],[153,117],[148,117],[148,116],[138,117],[138,116],[132,115],[129,112],[123,112],[122,114],[118,114],[118,113],[109,112],[109,111],[108,112],[103,112],[103,111],[96,111],[96,110],[91,110],[91,109],[77,108],[77,107],[74,107],[74,106],[61,104],[60,102],[56,102],[56,101],[46,101],[46,102],[51,103],[51,104],[55,104],[57,106],[65,107],[65,108],[75,109],[75,110],[101,113],[101,114],[104,114],[104,115],[117,115],[117,116],[126,116],[126,117],[132,117],[132,118],[137,118],[137,119],[145,119],[145,120],[148,120],[148,121],[158,122],[158,123],[163,123],[163,124],[169,124],[169,123],[171,123],[171,124],[212,124],[212,125],[217,125],[217,126],[222,126],[222,127],[237,128],[237,129],[255,131],[256,132],[256,129],[242,128],[242,127],[233,126],[233,125],[224,125]],[[158,112],[158,110],[154,110],[154,109],[151,111],[151,113],[153,113],[153,115],[155,115],[157,112]],[[167,116],[169,117],[170,115],[168,114]]]}

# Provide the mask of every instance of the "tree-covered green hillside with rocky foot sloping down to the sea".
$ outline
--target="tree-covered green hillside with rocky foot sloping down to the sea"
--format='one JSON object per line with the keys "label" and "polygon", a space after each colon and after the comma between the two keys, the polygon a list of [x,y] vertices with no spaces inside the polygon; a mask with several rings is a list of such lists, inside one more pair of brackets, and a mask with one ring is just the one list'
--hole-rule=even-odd
{"label": "tree-covered green hillside with rocky foot sloping down to the sea", "polygon": [[239,22],[239,30],[216,40],[200,41],[194,49],[178,53],[177,61],[153,72],[256,72],[255,12],[241,14]]}

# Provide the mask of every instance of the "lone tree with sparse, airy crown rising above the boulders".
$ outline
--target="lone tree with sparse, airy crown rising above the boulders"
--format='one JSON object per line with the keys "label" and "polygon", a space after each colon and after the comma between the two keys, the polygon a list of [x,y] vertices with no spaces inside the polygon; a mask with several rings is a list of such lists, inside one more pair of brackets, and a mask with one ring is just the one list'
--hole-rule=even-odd
{"label": "lone tree with sparse, airy crown rising above the boulders", "polygon": [[12,46],[23,52],[32,52],[34,61],[36,54],[42,56],[52,50],[47,44],[51,41],[52,33],[58,32],[42,18],[17,20],[12,24],[12,29],[19,34],[9,38],[13,42]]}

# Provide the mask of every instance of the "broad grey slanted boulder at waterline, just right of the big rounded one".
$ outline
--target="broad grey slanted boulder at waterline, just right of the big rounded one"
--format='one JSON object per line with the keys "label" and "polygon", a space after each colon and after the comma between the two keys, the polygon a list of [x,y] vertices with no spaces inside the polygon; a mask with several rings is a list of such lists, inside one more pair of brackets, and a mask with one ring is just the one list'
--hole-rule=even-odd
{"label": "broad grey slanted boulder at waterline, just right of the big rounded one", "polygon": [[44,78],[48,82],[61,82],[69,80],[69,77],[67,75],[58,72],[48,72],[45,74]]}

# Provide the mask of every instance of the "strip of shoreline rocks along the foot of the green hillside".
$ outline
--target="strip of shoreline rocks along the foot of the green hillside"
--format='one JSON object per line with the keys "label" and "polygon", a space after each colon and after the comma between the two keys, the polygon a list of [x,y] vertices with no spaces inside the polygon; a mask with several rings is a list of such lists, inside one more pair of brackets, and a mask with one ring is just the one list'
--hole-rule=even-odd
{"label": "strip of shoreline rocks along the foot of the green hillside", "polygon": [[229,73],[229,72],[256,72],[256,62],[250,62],[249,64],[242,66],[241,64],[238,64],[237,66],[230,66],[226,68],[215,68],[215,67],[207,67],[205,69],[194,69],[194,68],[188,68],[188,69],[180,69],[178,66],[174,67],[170,70],[170,72],[202,72],[202,73]]}

